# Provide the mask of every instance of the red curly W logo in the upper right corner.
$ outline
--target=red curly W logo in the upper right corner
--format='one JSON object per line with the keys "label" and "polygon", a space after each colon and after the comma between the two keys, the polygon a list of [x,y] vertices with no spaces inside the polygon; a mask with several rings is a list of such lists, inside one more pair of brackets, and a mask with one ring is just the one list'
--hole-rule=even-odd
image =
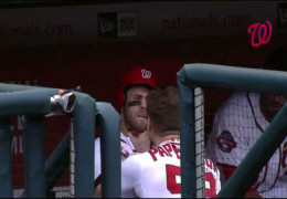
{"label": "red curly W logo in the upper right corner", "polygon": [[261,44],[266,44],[272,38],[272,23],[269,21],[266,21],[266,24],[253,23],[248,27],[248,33],[252,34],[252,46],[257,48]]}

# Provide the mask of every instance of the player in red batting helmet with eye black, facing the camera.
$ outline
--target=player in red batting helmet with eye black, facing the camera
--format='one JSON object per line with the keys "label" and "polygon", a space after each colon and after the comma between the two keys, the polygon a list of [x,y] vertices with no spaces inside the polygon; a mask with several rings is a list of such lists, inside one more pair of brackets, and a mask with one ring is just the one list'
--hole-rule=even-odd
{"label": "player in red batting helmet with eye black, facing the camera", "polygon": [[[127,71],[118,91],[117,109],[120,112],[121,160],[150,149],[147,133],[146,96],[155,88],[156,80],[151,71],[135,66]],[[95,195],[102,196],[100,185],[100,140],[95,140]]]}

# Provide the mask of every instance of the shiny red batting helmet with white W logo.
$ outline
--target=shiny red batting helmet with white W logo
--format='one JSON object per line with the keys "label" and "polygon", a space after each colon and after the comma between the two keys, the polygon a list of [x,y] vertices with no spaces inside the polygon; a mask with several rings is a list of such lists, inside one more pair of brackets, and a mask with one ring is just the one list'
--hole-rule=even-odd
{"label": "shiny red batting helmet with white W logo", "polygon": [[119,111],[124,105],[125,94],[130,86],[134,85],[146,85],[148,87],[155,87],[156,81],[151,71],[145,66],[135,66],[127,71],[123,75],[123,82],[118,91],[117,97],[117,109]]}

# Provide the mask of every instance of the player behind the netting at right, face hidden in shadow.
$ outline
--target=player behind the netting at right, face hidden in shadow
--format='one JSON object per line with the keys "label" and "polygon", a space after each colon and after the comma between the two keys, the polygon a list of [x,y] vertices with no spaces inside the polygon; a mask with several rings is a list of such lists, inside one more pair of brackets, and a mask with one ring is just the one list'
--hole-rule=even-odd
{"label": "player behind the netting at right, face hidden in shadow", "polygon": [[[286,71],[287,51],[278,49],[265,61],[265,69]],[[270,93],[234,93],[217,109],[208,139],[206,154],[222,168],[227,180],[286,103],[286,96]],[[244,197],[287,198],[287,138],[259,172]]]}

